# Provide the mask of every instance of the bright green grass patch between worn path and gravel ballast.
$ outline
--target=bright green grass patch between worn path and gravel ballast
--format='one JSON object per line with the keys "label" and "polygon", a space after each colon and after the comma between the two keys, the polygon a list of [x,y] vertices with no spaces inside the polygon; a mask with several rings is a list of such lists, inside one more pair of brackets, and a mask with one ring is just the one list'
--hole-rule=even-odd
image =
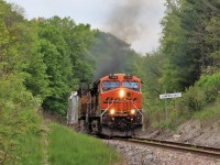
{"label": "bright green grass patch between worn path and gravel ballast", "polygon": [[120,162],[119,154],[101,140],[52,123],[48,134],[48,162],[52,165],[108,165]]}

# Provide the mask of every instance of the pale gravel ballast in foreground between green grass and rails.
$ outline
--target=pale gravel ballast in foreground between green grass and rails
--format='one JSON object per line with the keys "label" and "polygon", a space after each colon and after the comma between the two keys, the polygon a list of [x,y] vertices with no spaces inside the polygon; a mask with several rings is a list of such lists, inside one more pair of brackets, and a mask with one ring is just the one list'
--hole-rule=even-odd
{"label": "pale gravel ballast in foreground between green grass and rails", "polygon": [[167,148],[134,144],[118,140],[105,140],[124,157],[121,165],[220,165],[220,160]]}

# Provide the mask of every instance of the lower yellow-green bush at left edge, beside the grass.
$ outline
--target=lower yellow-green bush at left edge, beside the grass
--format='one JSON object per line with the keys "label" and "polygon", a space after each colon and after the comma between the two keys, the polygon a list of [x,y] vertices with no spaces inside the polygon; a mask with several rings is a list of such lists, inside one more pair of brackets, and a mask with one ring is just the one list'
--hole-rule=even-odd
{"label": "lower yellow-green bush at left edge, beside the grass", "polygon": [[[21,136],[36,133],[40,119],[34,110],[41,101],[28,91],[13,74],[0,79],[0,164],[14,164],[25,153],[18,150]],[[19,138],[20,136],[20,138]],[[18,139],[19,138],[19,139]]]}

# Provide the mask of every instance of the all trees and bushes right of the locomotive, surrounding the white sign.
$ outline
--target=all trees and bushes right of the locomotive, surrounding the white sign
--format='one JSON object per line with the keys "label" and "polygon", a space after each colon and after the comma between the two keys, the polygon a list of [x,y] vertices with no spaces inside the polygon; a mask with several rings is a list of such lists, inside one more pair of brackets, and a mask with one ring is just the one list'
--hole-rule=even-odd
{"label": "all trees and bushes right of the locomotive, surrounding the white sign", "polygon": [[[166,0],[161,47],[143,57],[147,124],[170,129],[220,117],[220,1]],[[160,94],[182,92],[165,101]]]}

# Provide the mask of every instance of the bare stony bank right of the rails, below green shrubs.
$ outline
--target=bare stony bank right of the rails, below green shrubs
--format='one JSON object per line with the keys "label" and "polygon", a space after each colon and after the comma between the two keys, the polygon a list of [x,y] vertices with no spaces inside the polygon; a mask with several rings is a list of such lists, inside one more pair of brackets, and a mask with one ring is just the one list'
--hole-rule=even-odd
{"label": "bare stony bank right of the rails, below green shrubs", "polygon": [[155,130],[153,132],[146,132],[143,136],[220,147],[220,120],[189,120],[188,122],[182,124],[176,132]]}

